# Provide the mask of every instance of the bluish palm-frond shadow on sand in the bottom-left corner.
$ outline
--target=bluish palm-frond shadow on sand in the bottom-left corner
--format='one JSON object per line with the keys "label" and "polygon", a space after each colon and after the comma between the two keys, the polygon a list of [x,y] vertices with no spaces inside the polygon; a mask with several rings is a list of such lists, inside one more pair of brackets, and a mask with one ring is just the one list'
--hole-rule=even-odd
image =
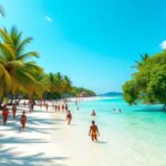
{"label": "bluish palm-frond shadow on sand in the bottom-left corner", "polygon": [[0,165],[2,166],[64,166],[64,164],[58,164],[55,160],[62,162],[65,159],[69,159],[69,157],[51,157],[43,153],[22,155],[13,148],[0,148]]}

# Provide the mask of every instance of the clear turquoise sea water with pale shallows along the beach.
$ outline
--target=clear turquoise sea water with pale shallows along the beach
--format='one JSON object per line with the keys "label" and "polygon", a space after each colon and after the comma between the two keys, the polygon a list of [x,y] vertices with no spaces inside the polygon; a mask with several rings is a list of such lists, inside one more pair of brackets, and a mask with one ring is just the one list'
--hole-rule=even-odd
{"label": "clear turquoise sea water with pale shallows along the beach", "polygon": [[[81,102],[79,111],[72,103],[70,108],[80,125],[86,127],[95,110],[100,139],[107,144],[105,155],[118,156],[123,162],[117,165],[166,166],[166,113],[162,112],[162,105],[128,106],[122,97],[113,97]],[[121,108],[123,113],[115,113],[113,108]]]}

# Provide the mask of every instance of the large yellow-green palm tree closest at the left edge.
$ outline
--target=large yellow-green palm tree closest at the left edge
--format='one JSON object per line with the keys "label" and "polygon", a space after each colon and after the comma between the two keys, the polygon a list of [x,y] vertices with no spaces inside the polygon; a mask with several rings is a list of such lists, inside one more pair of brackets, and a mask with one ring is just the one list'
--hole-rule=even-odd
{"label": "large yellow-green palm tree closest at the left edge", "polygon": [[18,90],[28,92],[37,80],[33,75],[41,69],[29,59],[39,54],[35,51],[24,52],[25,46],[31,43],[32,38],[22,39],[22,32],[12,28],[0,29],[0,105],[7,92],[14,93]]}

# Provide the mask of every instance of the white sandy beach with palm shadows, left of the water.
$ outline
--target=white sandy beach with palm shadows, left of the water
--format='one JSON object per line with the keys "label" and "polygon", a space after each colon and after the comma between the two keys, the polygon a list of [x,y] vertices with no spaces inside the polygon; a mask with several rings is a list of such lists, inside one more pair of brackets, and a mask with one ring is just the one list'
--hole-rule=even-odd
{"label": "white sandy beach with palm shadows, left of the water", "polygon": [[[40,110],[28,113],[28,125],[20,132],[19,107],[17,120],[11,115],[7,126],[0,126],[0,165],[3,166],[101,166],[92,164],[91,157],[100,157],[96,143],[87,137],[87,126],[65,122],[65,113]],[[25,108],[28,111],[28,108]],[[2,124],[2,122],[0,121]],[[101,142],[102,143],[102,142]],[[101,148],[102,151],[102,148]]]}

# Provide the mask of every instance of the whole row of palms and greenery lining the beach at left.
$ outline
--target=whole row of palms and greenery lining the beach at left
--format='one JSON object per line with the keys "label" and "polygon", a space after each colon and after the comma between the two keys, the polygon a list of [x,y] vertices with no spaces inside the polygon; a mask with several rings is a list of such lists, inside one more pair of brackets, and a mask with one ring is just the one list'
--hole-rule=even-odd
{"label": "whole row of palms and greenery lining the beach at left", "polygon": [[94,92],[72,85],[72,81],[61,73],[44,73],[33,59],[37,51],[25,51],[32,38],[22,38],[17,28],[8,31],[0,29],[0,106],[4,97],[21,98],[61,98],[77,96],[82,91],[90,95]]}

